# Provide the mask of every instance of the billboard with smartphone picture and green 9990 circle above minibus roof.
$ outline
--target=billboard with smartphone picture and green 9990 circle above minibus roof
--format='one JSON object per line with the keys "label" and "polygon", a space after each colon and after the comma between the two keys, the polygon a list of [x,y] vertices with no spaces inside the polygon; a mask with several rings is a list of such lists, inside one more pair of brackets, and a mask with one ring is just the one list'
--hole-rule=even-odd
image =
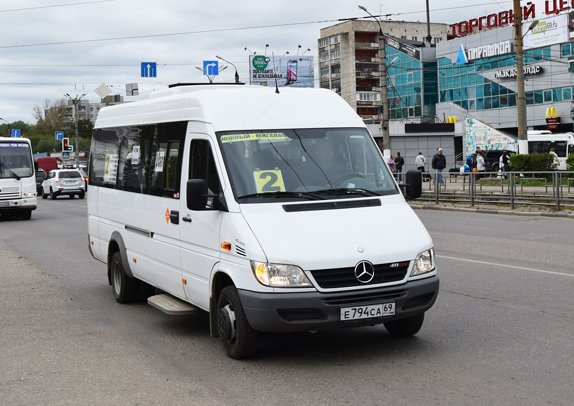
{"label": "billboard with smartphone picture and green 9990 circle above minibus roof", "polygon": [[254,85],[315,87],[312,56],[249,56],[249,83]]}

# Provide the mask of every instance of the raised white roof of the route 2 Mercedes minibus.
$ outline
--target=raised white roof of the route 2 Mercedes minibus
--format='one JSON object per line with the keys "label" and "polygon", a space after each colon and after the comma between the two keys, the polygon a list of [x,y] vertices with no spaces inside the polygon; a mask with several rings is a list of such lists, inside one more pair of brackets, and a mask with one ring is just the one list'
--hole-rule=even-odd
{"label": "raised white roof of the route 2 Mercedes minibus", "polygon": [[104,107],[95,128],[195,120],[215,131],[365,127],[342,97],[328,89],[182,85],[139,102]]}

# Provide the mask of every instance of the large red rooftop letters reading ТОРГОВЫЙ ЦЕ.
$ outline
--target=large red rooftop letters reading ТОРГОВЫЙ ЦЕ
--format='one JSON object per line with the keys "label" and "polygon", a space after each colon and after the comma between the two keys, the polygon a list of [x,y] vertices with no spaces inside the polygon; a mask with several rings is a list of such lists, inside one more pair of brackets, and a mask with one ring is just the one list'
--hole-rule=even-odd
{"label": "large red rooftop letters reading \u0422\u041e\u0420\u0413\u041e\u0412\u042b\u0419 \u0426\u0415", "polygon": [[[530,17],[536,19],[535,5],[532,2],[526,3],[521,7],[522,20]],[[568,0],[546,0],[545,14],[556,15],[563,11],[569,11],[572,7],[568,5]],[[483,29],[499,28],[509,24],[514,24],[514,10],[501,11],[500,13],[483,15],[483,17],[472,18],[468,21],[461,21],[457,24],[450,25],[452,36],[467,35],[473,32],[482,31]]]}

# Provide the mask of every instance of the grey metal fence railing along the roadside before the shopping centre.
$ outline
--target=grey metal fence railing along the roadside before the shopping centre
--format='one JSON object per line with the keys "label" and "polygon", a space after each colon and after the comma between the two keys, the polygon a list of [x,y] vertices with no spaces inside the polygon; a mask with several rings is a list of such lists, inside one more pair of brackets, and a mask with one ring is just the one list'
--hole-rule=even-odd
{"label": "grey metal fence railing along the roadside before the shopping centre", "polygon": [[[430,175],[430,179],[428,179]],[[574,208],[574,171],[445,173],[444,185],[424,173],[419,200]]]}

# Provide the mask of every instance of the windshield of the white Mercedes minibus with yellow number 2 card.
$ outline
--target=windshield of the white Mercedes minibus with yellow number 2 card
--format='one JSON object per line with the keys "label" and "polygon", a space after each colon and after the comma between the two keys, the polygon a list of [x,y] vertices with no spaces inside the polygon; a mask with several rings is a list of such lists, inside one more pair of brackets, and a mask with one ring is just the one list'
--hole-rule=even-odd
{"label": "windshield of the white Mercedes minibus with yellow number 2 card", "polygon": [[399,193],[364,128],[222,131],[217,135],[239,202]]}

